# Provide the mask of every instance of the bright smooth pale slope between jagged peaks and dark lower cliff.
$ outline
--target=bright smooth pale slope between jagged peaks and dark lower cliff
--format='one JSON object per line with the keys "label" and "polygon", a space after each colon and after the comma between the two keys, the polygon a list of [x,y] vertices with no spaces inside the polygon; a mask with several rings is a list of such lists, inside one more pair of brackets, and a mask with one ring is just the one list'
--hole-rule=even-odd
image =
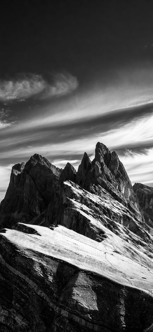
{"label": "bright smooth pale slope between jagged peaks and dark lower cliff", "polygon": [[27,256],[31,257],[31,251],[34,251],[37,256],[41,253],[55,257],[122,285],[153,292],[152,259],[142,252],[141,246],[135,248],[107,228],[104,227],[108,238],[98,243],[63,226],[54,230],[38,225],[26,226],[41,236],[7,229],[1,237],[13,242]]}

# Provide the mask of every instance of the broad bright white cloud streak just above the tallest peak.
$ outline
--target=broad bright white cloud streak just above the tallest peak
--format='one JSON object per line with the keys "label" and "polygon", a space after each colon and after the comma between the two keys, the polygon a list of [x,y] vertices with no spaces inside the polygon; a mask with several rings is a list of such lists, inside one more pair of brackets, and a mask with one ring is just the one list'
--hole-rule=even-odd
{"label": "broad bright white cloud streak just above the tallest peak", "polygon": [[[145,113],[145,112],[144,112]],[[92,154],[97,141],[106,144],[110,149],[142,148],[151,147],[153,142],[152,123],[153,115],[140,113],[140,117],[133,119],[133,115],[119,119],[120,115],[109,118],[102,117],[87,122],[62,124],[48,127],[22,127],[14,131],[7,129],[7,138],[1,135],[1,158],[25,154],[25,157],[35,153],[50,155],[63,155],[67,153],[86,152]],[[125,115],[126,118],[126,115]],[[113,128],[114,125],[114,128]],[[113,129],[112,129],[113,128]],[[22,129],[22,130],[21,130]],[[20,149],[20,150],[19,150]],[[64,158],[65,159],[65,158]],[[78,159],[78,158],[73,158]],[[58,159],[60,160],[60,159]]]}

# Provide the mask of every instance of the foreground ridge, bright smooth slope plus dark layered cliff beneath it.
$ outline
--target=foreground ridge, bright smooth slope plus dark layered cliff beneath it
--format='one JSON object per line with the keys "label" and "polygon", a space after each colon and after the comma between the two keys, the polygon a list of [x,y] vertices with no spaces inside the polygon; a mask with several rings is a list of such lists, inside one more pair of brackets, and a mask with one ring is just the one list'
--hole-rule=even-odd
{"label": "foreground ridge, bright smooth slope plus dark layered cliff beneath it", "polygon": [[101,243],[63,226],[15,228],[0,231],[1,331],[142,332],[152,325],[146,248],[105,226]]}

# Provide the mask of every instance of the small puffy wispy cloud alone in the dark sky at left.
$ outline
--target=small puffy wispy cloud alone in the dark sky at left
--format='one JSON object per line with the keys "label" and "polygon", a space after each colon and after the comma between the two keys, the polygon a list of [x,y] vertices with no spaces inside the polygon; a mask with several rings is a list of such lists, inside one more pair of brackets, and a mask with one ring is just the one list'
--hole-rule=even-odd
{"label": "small puffy wispy cloud alone in the dark sky at left", "polygon": [[41,75],[18,74],[12,80],[0,80],[0,100],[24,101],[37,95],[38,99],[48,99],[53,96],[65,95],[78,86],[76,77],[69,73],[51,76],[51,83]]}

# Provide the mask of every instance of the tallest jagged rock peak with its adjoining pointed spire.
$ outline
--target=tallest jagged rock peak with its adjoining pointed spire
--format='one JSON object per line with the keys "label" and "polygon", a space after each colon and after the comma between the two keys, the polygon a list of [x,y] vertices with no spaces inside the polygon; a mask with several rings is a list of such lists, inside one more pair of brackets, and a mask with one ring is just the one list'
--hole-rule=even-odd
{"label": "tallest jagged rock peak with its adjoining pointed spire", "polygon": [[[91,162],[84,154],[78,168],[76,182],[86,190],[94,191],[94,185],[106,189],[117,201],[128,202],[132,208],[139,207],[137,197],[133,191],[129,177],[115,151],[111,153],[106,145],[98,142],[95,158]],[[128,200],[128,201],[126,201]]]}

